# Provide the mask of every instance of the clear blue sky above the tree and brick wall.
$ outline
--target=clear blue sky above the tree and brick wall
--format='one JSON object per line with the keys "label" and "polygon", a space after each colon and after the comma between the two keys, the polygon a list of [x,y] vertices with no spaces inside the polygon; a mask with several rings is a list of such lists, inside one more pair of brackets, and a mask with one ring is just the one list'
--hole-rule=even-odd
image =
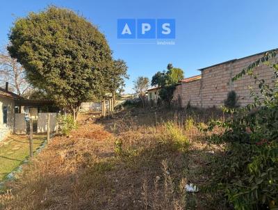
{"label": "clear blue sky above the tree and brick wall", "polygon": [[[278,47],[277,0],[1,0],[0,46],[8,42],[17,17],[50,5],[74,10],[106,35],[113,57],[129,67],[126,93],[134,92],[138,76],[152,79],[168,63],[189,77],[200,74],[199,68]],[[117,38],[117,19],[125,18],[175,19],[174,45],[156,45],[156,40],[127,44]]]}

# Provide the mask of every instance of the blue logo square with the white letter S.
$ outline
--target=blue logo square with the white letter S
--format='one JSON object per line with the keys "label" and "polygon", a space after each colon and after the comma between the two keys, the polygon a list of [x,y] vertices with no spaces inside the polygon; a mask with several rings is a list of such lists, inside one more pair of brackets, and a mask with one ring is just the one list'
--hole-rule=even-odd
{"label": "blue logo square with the white letter S", "polygon": [[157,38],[174,39],[176,37],[175,19],[157,19]]}

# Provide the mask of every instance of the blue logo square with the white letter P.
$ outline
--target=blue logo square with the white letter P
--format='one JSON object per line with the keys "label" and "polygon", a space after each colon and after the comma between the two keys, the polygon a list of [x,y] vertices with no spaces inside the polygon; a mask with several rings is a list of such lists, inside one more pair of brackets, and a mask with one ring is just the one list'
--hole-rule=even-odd
{"label": "blue logo square with the white letter P", "polygon": [[137,38],[155,39],[156,38],[156,19],[137,20]]}

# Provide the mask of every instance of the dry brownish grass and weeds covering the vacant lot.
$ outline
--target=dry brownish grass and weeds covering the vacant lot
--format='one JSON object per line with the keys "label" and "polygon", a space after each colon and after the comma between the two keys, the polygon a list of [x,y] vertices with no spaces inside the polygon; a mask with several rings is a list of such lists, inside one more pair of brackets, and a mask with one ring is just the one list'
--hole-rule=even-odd
{"label": "dry brownish grass and weeds covering the vacant lot", "polygon": [[162,113],[82,115],[78,129],[55,137],[6,185],[0,209],[224,209],[220,195],[184,190],[209,182],[211,156],[224,145],[202,140],[197,115],[191,123]]}

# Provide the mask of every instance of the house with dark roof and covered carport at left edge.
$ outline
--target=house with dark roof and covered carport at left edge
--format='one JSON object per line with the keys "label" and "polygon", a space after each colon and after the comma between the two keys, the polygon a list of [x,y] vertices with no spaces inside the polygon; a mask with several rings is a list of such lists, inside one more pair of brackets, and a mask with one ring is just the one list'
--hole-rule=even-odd
{"label": "house with dark roof and covered carport at left edge", "polygon": [[[8,91],[7,82],[6,88],[0,88],[0,106],[0,140],[3,140],[8,134],[15,133],[17,127],[24,127],[25,131],[22,134],[26,133],[25,115],[33,119],[33,128],[38,129],[39,113],[58,111],[51,100],[29,100]],[[18,115],[19,113],[21,115]]]}

